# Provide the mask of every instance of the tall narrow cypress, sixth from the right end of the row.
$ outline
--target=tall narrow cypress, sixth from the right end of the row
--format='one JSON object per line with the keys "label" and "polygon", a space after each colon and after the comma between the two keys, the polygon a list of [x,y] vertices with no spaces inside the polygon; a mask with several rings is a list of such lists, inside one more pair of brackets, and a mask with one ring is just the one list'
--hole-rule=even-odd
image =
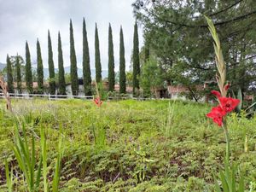
{"label": "tall narrow cypress, sixth from the right end of the row", "polygon": [[77,96],[78,93],[79,93],[79,78],[78,78],[77,57],[76,57],[76,52],[75,52],[75,48],[74,48],[72,20],[70,20],[69,32],[70,32],[70,78],[71,78],[71,89],[72,89],[73,96]]}

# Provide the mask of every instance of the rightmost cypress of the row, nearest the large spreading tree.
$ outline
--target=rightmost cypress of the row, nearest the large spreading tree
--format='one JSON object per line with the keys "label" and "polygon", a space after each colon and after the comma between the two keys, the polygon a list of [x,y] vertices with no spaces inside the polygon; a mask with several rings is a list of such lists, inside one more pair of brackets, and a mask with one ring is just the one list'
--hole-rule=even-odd
{"label": "rightmost cypress of the row, nearest the large spreading tree", "polygon": [[133,75],[132,75],[132,90],[133,95],[136,95],[136,89],[139,90],[139,75],[140,75],[140,59],[139,59],[139,42],[138,42],[138,35],[137,35],[137,21],[134,25],[134,34],[133,34],[133,54],[132,54],[132,61],[133,61]]}

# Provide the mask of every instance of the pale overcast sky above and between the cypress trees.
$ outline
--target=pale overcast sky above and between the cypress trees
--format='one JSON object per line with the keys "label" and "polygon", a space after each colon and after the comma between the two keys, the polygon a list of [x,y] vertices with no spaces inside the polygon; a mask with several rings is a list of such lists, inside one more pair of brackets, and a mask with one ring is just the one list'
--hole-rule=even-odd
{"label": "pale overcast sky above and between the cypress trees", "polygon": [[[6,55],[17,53],[25,59],[25,43],[28,41],[32,63],[36,63],[37,38],[41,44],[44,67],[48,67],[47,32],[49,29],[55,68],[57,67],[57,34],[61,32],[64,66],[69,61],[69,20],[73,31],[78,67],[82,67],[82,22],[86,21],[90,49],[90,67],[94,63],[94,32],[98,26],[102,69],[108,69],[108,23],[113,30],[115,71],[119,70],[119,27],[122,25],[125,39],[126,70],[131,60],[134,17],[131,3],[134,0],[0,0],[0,62],[6,63]],[[143,35],[139,28],[140,47]]]}

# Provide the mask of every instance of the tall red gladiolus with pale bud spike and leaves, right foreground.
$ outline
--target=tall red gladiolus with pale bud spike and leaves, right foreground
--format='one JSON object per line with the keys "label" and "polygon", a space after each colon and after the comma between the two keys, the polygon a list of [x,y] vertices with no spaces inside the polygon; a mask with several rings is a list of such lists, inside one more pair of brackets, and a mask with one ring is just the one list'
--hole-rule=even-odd
{"label": "tall red gladiolus with pale bud spike and leaves, right foreground", "polygon": [[[216,29],[212,23],[212,20],[207,18],[208,28],[212,34],[212,38],[214,40],[213,46],[215,51],[215,60],[216,60],[216,67],[218,69],[218,73],[216,74],[216,80],[218,83],[218,88],[220,90],[220,93],[218,91],[212,92],[213,95],[218,97],[219,105],[216,108],[212,108],[211,113],[208,113],[208,117],[213,118],[213,121],[217,123],[218,125],[221,125],[224,130],[224,135],[226,139],[226,154],[225,154],[225,160],[224,160],[224,170],[220,170],[218,174],[218,180],[214,178],[215,180],[215,190],[216,192],[244,192],[245,191],[245,185],[244,180],[241,175],[239,175],[238,179],[236,179],[236,175],[238,173],[238,168],[236,165],[234,165],[232,162],[230,164],[230,136],[229,131],[227,127],[227,120],[225,118],[226,113],[232,111],[230,110],[230,103],[229,103],[229,109],[227,110],[226,103],[224,103],[224,100],[228,99],[227,91],[230,87],[230,84],[226,84],[226,65],[224,63],[224,56],[222,54],[222,49],[220,47],[220,42],[218,38],[218,34],[216,32]],[[236,108],[236,105],[240,102],[237,99],[228,99]],[[227,101],[226,101],[227,102]],[[225,109],[224,109],[225,108]],[[224,109],[224,111],[223,111]],[[215,113],[215,114],[214,114]],[[213,115],[213,116],[212,116]],[[214,117],[214,115],[216,115]],[[214,119],[215,118],[215,119]],[[217,118],[217,119],[216,119]],[[221,118],[221,122],[219,122]],[[236,181],[238,183],[236,184]],[[219,183],[220,182],[220,183]],[[238,188],[237,188],[238,187]]]}

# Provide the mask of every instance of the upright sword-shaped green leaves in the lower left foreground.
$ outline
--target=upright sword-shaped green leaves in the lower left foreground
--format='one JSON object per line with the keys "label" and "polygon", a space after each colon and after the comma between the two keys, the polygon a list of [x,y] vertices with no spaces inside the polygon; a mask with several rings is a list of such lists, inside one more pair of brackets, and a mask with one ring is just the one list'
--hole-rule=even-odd
{"label": "upright sword-shaped green leaves in the lower left foreground", "polygon": [[[47,139],[45,136],[44,127],[41,126],[40,129],[40,158],[37,161],[37,154],[36,154],[36,145],[35,145],[35,137],[32,134],[31,146],[29,145],[28,139],[26,137],[26,126],[22,125],[22,136],[19,132],[19,126],[16,126],[15,129],[15,143],[12,146],[12,150],[15,154],[15,160],[17,160],[18,166],[20,168],[20,172],[25,177],[24,186],[27,191],[29,192],[37,192],[41,191],[41,177],[43,171],[43,185],[44,185],[44,192],[49,191],[49,166],[47,165]],[[63,155],[63,148],[62,148],[62,136],[61,131],[59,135],[59,143],[58,143],[58,154],[55,160],[55,171],[53,181],[51,183],[51,191],[57,192],[60,177],[61,177],[61,159]],[[9,165],[6,161],[5,163],[5,172],[6,172],[6,181],[9,191],[12,191],[14,187],[13,183],[13,168],[11,172],[9,172]]]}

